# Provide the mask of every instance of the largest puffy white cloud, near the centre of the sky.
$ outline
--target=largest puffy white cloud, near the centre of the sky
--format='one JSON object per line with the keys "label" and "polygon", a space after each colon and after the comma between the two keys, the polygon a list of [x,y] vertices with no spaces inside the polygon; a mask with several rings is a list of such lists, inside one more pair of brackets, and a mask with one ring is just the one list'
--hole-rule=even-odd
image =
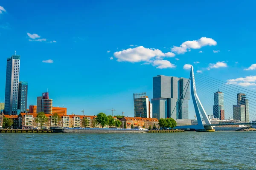
{"label": "largest puffy white cloud, near the centre of the sky", "polygon": [[123,51],[117,51],[114,53],[114,57],[118,62],[141,62],[149,61],[154,57],[165,57],[166,55],[158,49],[144,48],[139,46],[136,48],[128,48]]}

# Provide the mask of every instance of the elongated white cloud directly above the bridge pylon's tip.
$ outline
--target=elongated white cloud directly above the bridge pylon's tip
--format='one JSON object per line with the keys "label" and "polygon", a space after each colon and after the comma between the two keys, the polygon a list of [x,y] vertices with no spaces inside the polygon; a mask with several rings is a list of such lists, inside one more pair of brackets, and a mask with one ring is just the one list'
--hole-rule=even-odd
{"label": "elongated white cloud directly above the bridge pylon's tip", "polygon": [[183,42],[179,47],[173,46],[172,52],[175,52],[177,54],[184,54],[188,50],[190,51],[190,49],[199,49],[207,45],[209,46],[217,45],[217,42],[212,38],[201,37],[198,40]]}

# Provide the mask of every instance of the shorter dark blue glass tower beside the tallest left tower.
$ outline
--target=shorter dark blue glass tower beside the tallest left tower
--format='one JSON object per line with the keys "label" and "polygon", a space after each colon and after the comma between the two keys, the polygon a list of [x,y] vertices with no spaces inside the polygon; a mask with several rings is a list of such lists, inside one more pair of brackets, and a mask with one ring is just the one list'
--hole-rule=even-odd
{"label": "shorter dark blue glass tower beside the tallest left tower", "polygon": [[27,98],[28,98],[28,82],[19,82],[18,91],[18,110],[21,113],[25,113],[27,109]]}

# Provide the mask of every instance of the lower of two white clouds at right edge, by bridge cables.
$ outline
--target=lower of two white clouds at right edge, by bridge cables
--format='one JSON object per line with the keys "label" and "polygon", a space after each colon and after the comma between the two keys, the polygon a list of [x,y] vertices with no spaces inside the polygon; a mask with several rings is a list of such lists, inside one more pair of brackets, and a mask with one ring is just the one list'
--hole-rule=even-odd
{"label": "lower of two white clouds at right edge, by bridge cables", "polygon": [[247,77],[240,77],[237,79],[228,79],[227,83],[237,84],[244,87],[256,85],[256,76],[247,76]]}

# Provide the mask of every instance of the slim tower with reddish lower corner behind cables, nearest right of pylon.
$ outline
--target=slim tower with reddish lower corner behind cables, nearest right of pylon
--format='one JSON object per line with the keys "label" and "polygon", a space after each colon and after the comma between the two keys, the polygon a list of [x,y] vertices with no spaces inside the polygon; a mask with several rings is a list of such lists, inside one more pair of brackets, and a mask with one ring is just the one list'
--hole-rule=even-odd
{"label": "slim tower with reddish lower corner behind cables, nearest right of pylon", "polygon": [[216,93],[214,93],[214,105],[212,111],[214,118],[225,120],[223,92],[217,91]]}

